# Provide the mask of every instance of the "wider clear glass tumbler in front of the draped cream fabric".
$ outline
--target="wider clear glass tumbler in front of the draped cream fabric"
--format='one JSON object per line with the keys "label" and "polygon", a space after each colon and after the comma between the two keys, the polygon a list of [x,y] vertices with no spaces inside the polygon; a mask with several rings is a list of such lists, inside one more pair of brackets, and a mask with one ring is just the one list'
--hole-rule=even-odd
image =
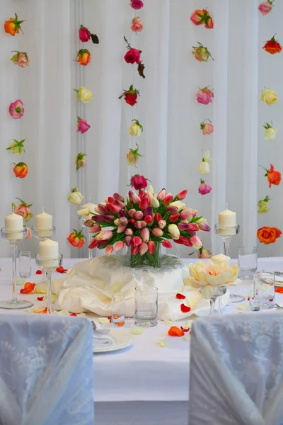
{"label": "wider clear glass tumbler in front of the draped cream fabric", "polygon": [[158,321],[158,290],[155,287],[140,286],[134,290],[134,324],[154,327]]}

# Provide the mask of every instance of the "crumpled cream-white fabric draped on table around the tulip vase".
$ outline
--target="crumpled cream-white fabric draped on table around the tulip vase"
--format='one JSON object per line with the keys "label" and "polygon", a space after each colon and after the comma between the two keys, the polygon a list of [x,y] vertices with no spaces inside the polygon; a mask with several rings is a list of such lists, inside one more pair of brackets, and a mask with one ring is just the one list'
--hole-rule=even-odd
{"label": "crumpled cream-white fabric draped on table around the tulip vase", "polygon": [[[100,256],[74,264],[64,280],[52,280],[52,292],[58,295],[57,310],[75,313],[111,314],[111,297],[125,295],[126,316],[134,316],[134,288],[149,285],[158,288],[158,319],[179,320],[192,314],[207,315],[209,302],[202,300],[199,290],[184,285],[189,273],[180,259],[161,256],[160,268],[123,266],[124,256]],[[185,300],[176,298],[177,293]],[[191,307],[183,313],[180,305]]]}

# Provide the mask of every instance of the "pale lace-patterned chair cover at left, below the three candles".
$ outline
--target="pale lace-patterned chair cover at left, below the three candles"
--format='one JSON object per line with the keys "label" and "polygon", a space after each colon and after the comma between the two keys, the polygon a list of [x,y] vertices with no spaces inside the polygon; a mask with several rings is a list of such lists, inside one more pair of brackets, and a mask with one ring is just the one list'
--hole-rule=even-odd
{"label": "pale lace-patterned chair cover at left, below the three candles", "polygon": [[87,319],[0,314],[0,424],[93,425]]}

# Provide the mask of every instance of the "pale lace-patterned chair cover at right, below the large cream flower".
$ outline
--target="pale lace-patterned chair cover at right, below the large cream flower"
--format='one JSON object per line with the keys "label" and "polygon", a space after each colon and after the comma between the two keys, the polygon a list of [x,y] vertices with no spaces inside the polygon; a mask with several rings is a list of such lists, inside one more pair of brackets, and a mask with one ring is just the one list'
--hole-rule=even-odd
{"label": "pale lace-patterned chair cover at right, below the large cream flower", "polygon": [[283,424],[283,315],[192,325],[190,425]]}

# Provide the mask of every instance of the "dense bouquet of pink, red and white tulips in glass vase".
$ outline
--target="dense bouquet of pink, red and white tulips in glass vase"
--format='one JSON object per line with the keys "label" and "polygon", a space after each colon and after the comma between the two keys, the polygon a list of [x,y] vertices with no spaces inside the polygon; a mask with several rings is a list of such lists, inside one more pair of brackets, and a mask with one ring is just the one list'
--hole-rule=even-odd
{"label": "dense bouquet of pink, red and white tulips in glass vase", "polygon": [[[125,200],[118,193],[99,203],[94,212],[79,210],[83,217],[93,213],[91,220],[84,225],[93,233],[89,248],[105,249],[109,256],[124,246],[130,247],[130,266],[138,266],[146,259],[151,266],[158,266],[158,248],[172,248],[170,239],[176,244],[202,248],[202,242],[196,232],[209,232],[210,227],[197,210],[186,208],[183,199],[187,191],[173,196],[162,189],[154,193],[152,186],[139,194],[129,191]],[[112,227],[111,230],[103,228]]]}

